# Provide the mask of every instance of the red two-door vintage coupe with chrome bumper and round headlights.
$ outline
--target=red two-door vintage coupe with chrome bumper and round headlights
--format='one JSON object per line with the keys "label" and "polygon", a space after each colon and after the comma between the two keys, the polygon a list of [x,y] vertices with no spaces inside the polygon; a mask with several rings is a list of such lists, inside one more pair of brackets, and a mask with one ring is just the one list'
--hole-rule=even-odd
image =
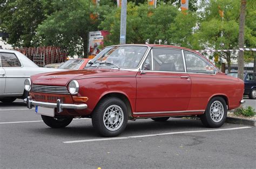
{"label": "red two-door vintage coupe with chrome bumper and round headlights", "polygon": [[63,128],[92,118],[105,137],[119,135],[127,120],[197,115],[205,126],[224,124],[227,110],[244,101],[244,82],[226,76],[199,53],[166,45],[104,48],[82,71],[45,73],[26,80],[28,108],[44,123]]}

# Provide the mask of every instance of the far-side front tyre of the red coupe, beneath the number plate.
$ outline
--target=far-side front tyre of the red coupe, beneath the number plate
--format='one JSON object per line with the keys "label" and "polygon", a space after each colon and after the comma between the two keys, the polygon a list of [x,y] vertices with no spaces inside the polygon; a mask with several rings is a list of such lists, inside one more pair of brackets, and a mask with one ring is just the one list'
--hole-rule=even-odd
{"label": "far-side front tyre of the red coupe, beneath the number plate", "polygon": [[68,118],[54,118],[50,116],[41,115],[44,123],[51,128],[65,128],[65,126],[69,125],[72,122],[72,117]]}

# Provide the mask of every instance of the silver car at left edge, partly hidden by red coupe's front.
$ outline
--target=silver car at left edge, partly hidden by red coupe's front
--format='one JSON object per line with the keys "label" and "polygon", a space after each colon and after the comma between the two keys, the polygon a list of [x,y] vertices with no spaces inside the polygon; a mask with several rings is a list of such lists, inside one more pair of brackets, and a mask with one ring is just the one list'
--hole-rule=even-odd
{"label": "silver car at left edge, partly hidden by red coupe's front", "polygon": [[38,67],[18,51],[0,50],[0,101],[10,103],[16,98],[28,97],[28,91],[24,90],[25,79],[53,71],[62,70]]}

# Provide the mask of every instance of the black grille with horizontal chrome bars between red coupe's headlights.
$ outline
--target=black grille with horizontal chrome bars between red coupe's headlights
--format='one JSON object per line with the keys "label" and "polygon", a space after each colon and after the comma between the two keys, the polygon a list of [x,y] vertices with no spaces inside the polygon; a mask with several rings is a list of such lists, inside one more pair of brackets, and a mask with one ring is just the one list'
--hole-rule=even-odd
{"label": "black grille with horizontal chrome bars between red coupe's headlights", "polygon": [[65,86],[44,86],[32,85],[31,91],[37,93],[52,93],[52,94],[69,94],[69,90]]}

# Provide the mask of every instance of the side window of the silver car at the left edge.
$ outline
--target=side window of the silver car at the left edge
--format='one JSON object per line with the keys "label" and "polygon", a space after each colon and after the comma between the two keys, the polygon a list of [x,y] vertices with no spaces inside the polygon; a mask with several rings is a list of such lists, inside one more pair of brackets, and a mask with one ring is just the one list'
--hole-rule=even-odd
{"label": "side window of the silver car at the left edge", "polygon": [[0,53],[2,67],[21,67],[19,60],[13,53]]}

